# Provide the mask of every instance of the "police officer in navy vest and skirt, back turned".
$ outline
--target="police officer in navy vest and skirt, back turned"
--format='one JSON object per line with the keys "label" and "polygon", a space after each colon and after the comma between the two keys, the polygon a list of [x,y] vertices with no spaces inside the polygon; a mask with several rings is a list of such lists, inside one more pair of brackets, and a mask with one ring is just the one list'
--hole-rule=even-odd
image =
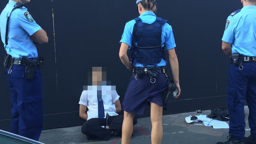
{"label": "police officer in navy vest and skirt, back turned", "polygon": [[[162,141],[162,111],[167,107],[162,99],[163,93],[167,91],[165,50],[168,51],[173,79],[178,88],[175,98],[181,92],[172,27],[167,20],[154,14],[155,2],[136,0],[140,16],[126,23],[120,41],[119,57],[127,69],[133,71],[122,103],[122,144],[129,143],[133,131],[133,117],[135,114],[145,114],[147,103],[151,106],[151,142],[159,144]],[[130,52],[135,51],[129,57],[128,49]]]}

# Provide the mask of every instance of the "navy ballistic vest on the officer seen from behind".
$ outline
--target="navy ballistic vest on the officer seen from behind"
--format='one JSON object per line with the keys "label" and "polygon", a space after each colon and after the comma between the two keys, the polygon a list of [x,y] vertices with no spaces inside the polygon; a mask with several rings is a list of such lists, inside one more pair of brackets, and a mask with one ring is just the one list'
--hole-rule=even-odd
{"label": "navy ballistic vest on the officer seen from behind", "polygon": [[[142,23],[140,18],[135,18],[136,21],[132,32],[132,55],[130,60],[136,58],[136,61],[147,65],[157,66],[162,58],[165,59],[165,49],[162,47],[162,26],[167,23],[167,20],[156,18],[154,23]],[[135,45],[137,43],[137,45]]]}

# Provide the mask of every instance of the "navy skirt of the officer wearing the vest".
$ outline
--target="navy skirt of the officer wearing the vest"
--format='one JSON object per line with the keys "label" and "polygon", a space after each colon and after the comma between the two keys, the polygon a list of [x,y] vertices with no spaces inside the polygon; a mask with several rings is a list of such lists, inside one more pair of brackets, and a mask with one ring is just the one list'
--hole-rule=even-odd
{"label": "navy skirt of the officer wearing the vest", "polygon": [[167,91],[165,74],[159,74],[155,79],[151,80],[155,83],[151,83],[149,75],[143,75],[136,80],[133,74],[122,103],[123,110],[143,115],[146,113],[146,105],[150,105],[150,102],[166,109],[167,105],[163,103],[163,94]]}

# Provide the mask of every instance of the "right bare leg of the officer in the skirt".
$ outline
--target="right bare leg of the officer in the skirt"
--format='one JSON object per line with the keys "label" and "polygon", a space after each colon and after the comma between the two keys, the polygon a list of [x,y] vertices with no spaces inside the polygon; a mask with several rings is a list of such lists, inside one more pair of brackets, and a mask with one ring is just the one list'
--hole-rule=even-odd
{"label": "right bare leg of the officer in the skirt", "polygon": [[150,117],[152,123],[151,130],[151,144],[161,144],[163,137],[163,125],[162,125],[162,115],[163,107],[154,103],[150,103]]}

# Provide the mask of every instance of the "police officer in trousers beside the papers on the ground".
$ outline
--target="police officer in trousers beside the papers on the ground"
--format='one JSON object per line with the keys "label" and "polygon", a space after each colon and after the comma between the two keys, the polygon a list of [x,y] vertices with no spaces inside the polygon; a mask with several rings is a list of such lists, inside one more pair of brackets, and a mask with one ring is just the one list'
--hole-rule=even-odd
{"label": "police officer in trousers beside the papers on the ground", "polygon": [[[229,140],[217,144],[256,144],[256,0],[241,0],[243,8],[230,14],[222,38],[222,50],[231,55],[227,105]],[[249,107],[250,137],[244,137],[244,102]]]}

